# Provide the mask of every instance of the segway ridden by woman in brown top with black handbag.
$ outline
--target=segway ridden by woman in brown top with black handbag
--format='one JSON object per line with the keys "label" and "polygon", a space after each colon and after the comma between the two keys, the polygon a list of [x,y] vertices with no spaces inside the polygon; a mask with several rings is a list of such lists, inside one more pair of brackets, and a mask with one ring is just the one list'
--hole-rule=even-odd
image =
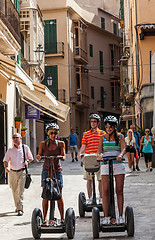
{"label": "segway ridden by woman in brown top with black handbag", "polygon": [[[51,156],[56,158],[55,156]],[[41,157],[42,159],[49,159],[50,157]],[[31,229],[32,235],[35,239],[39,239],[42,233],[67,233],[69,239],[74,238],[75,234],[75,212],[73,208],[68,208],[65,213],[64,224],[60,219],[54,217],[55,201],[50,200],[49,220],[43,224],[43,214],[39,208],[35,208],[32,213]]]}

